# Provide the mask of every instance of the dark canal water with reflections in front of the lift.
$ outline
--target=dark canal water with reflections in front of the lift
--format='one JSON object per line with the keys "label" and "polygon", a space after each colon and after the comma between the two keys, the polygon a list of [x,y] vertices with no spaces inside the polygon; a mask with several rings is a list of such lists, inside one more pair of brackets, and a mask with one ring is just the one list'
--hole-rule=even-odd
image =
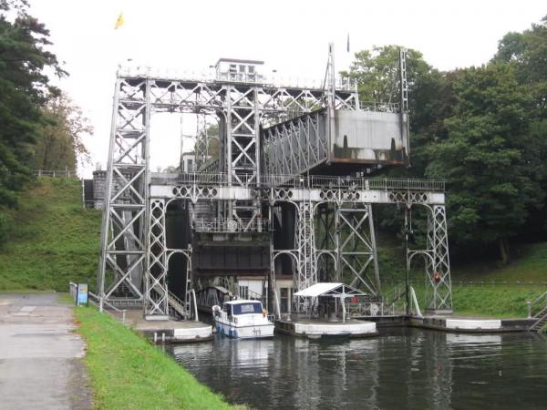
{"label": "dark canal water with reflections in front of the lift", "polygon": [[547,340],[391,329],[338,343],[276,335],[168,347],[234,404],[281,408],[547,408]]}

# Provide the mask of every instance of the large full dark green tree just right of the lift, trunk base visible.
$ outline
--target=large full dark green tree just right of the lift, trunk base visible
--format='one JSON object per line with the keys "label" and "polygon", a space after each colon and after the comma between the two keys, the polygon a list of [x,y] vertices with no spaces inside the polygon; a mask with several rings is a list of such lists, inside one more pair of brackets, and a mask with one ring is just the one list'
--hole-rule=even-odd
{"label": "large full dark green tree just right of the lift, trunk base visible", "polygon": [[429,178],[448,180],[452,241],[472,246],[497,242],[509,260],[509,239],[542,203],[538,141],[527,115],[532,101],[509,65],[459,72],[447,136],[428,145]]}

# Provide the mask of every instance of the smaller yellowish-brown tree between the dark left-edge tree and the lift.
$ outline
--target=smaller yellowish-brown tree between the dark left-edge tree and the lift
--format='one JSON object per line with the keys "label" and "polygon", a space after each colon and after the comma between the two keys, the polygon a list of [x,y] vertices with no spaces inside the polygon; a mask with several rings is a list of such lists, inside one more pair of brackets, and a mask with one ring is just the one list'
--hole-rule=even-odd
{"label": "smaller yellowish-brown tree between the dark left-edge tree and the lift", "polygon": [[67,96],[51,98],[43,110],[46,123],[40,129],[34,154],[35,169],[77,169],[78,159],[89,158],[82,138],[93,128]]}

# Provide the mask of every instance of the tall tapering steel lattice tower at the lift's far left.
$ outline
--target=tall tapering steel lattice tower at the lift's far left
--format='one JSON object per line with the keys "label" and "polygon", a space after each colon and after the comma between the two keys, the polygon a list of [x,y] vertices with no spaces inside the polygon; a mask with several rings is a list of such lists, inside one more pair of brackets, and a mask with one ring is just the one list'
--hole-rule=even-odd
{"label": "tall tapering steel lattice tower at the lift's far left", "polygon": [[[98,265],[98,293],[101,301],[116,294],[131,294],[142,300],[142,274],[146,263],[148,124],[150,104],[145,82],[129,95],[140,93],[138,101],[120,97],[123,80],[117,79],[105,188],[105,209],[101,227]],[[113,282],[107,283],[107,272]]]}

